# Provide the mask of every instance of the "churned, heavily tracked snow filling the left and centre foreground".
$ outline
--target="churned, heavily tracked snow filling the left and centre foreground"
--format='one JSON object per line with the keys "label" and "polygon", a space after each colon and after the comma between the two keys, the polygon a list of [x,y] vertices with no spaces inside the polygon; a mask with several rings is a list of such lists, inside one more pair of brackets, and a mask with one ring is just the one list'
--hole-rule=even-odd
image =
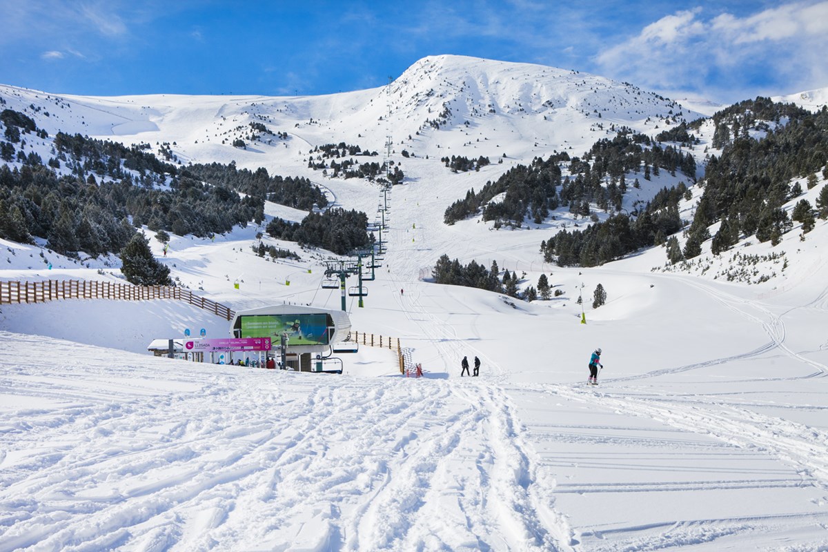
{"label": "churned, heavily tracked snow filling the left and centre foreground", "polygon": [[0,428],[2,551],[570,550],[483,381],[123,367],[135,386],[99,398],[105,370],[62,370],[0,382],[41,405]]}

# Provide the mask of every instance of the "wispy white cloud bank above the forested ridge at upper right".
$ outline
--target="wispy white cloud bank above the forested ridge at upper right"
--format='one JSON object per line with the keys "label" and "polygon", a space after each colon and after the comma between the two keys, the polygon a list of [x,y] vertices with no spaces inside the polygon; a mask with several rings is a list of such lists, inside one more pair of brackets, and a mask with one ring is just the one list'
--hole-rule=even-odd
{"label": "wispy white cloud bank above the forested ridge at upper right", "polygon": [[[828,1],[792,2],[739,17],[676,12],[599,53],[607,76],[720,101],[828,85]],[[745,95],[747,94],[747,95]]]}

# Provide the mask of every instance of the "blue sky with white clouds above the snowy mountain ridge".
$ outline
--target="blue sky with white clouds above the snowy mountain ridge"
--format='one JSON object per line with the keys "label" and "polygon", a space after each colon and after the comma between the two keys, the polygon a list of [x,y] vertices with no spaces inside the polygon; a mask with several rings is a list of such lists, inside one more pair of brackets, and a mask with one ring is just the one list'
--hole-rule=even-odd
{"label": "blue sky with white clouds above the snowy mountain ridge", "polygon": [[828,86],[828,0],[0,0],[0,14],[0,83],[65,94],[330,94],[439,54],[720,103]]}

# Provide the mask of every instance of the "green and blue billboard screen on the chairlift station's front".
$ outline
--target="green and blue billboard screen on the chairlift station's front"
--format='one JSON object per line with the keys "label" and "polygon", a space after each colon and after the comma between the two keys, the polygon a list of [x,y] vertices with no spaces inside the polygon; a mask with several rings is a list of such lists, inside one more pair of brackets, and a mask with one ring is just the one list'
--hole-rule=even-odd
{"label": "green and blue billboard screen on the chairlift station's front", "polygon": [[271,338],[279,343],[282,334],[287,334],[288,346],[328,344],[328,315],[324,313],[251,314],[239,318],[242,338]]}

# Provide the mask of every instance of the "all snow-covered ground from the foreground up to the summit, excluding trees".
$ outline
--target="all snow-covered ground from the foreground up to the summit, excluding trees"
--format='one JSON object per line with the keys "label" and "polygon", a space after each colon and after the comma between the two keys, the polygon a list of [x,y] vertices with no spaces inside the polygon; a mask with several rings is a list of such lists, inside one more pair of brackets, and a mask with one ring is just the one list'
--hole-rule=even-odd
{"label": "all snow-covered ground from the foreground up to the summit, excluding trees", "polygon": [[[322,97],[0,86],[0,98],[49,133],[24,137],[44,162],[55,132],[79,132],[181,165],[306,176],[369,218],[387,202],[388,253],[365,306],[348,297],[349,316],[360,332],[400,338],[426,373],[399,377],[396,356],[370,347],[344,358],[341,377],[152,358],[153,338],[228,331],[171,301],[0,305],[0,550],[828,550],[826,221],[719,257],[707,243],[681,271],[664,247],[592,268],[543,262],[542,240],[585,223],[564,209],[521,228],[443,223],[467,190],[535,156],[582,156],[623,126],[654,136],[710,104],[453,55]],[[705,122],[700,142],[681,146],[700,171],[714,131]],[[308,166],[328,143],[382,159],[387,137],[405,172],[388,194]],[[440,161],[453,155],[492,163],[455,173]],[[623,209],[682,179],[642,177]],[[815,204],[826,179],[796,183],[804,191],[785,209]],[[687,184],[689,220],[703,190]],[[305,216],[269,202],[265,213]],[[339,290],[320,287],[330,254],[265,235],[301,260],[258,257],[262,229],[173,234],[166,255],[150,242],[179,285],[234,310],[339,309]],[[560,293],[525,302],[437,285],[443,253],[497,262],[522,288],[543,274]],[[122,281],[115,257],[0,240],[0,280],[47,279]],[[607,302],[593,308],[599,284]],[[584,385],[596,347],[597,388]],[[464,356],[482,360],[482,377],[459,377]]]}

